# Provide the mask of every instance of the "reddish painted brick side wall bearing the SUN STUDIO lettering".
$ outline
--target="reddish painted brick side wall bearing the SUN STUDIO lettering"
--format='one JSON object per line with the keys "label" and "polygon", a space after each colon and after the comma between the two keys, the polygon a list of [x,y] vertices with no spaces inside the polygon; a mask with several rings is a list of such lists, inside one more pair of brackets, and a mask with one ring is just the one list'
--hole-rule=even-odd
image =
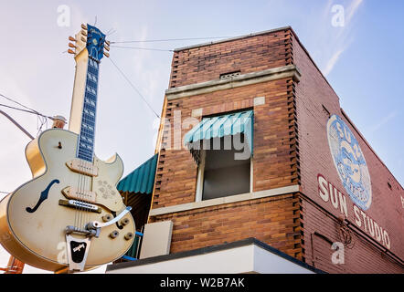
{"label": "reddish painted brick side wall bearing the SUN STUDIO lettering", "polygon": [[[346,120],[340,110],[339,99],[335,91],[326,82],[322,74],[315,68],[313,61],[301,47],[299,41],[294,37],[292,42],[292,55],[296,66],[302,73],[299,84],[296,85],[296,113],[299,129],[299,153],[301,157],[301,191],[318,208],[324,208],[329,215],[318,211],[313,204],[303,197],[303,241],[304,256],[309,264],[312,260],[312,248],[317,249],[315,266],[324,268],[330,272],[403,272],[404,269],[397,262],[394,262],[388,254],[394,254],[404,259],[404,213],[400,201],[400,196],[404,197],[404,192],[393,175],[388,172],[387,167],[380,162],[377,155],[370,149],[353,125]],[[358,84],[357,86],[365,86]],[[324,108],[326,110],[324,110]],[[327,112],[328,110],[328,112]],[[335,187],[346,194],[348,220],[355,224],[353,212],[353,202],[345,192],[339,176],[335,170],[335,164],[327,141],[326,125],[329,114],[337,114],[356,136],[360,148],[364,152],[367,161],[367,168],[370,173],[372,184],[372,204],[365,213],[387,230],[391,248],[388,253],[383,254],[382,245],[378,245],[372,239],[363,239],[360,231],[355,233],[360,240],[356,240],[353,249],[347,250],[346,265],[336,267],[331,264],[330,246],[324,243],[312,246],[311,237],[314,232],[327,235],[332,240],[337,240],[337,224],[335,218],[340,216],[339,210],[335,210],[332,203],[325,203],[318,192],[317,175],[321,173],[324,178],[333,183]],[[392,190],[388,188],[388,182],[392,185]],[[307,201],[307,202],[306,202]],[[363,227],[363,226],[362,226]],[[363,228],[362,228],[363,229]],[[367,232],[364,231],[364,234]],[[378,246],[378,247],[377,247]],[[394,264],[393,264],[394,263]],[[402,262],[401,262],[402,263]]]}

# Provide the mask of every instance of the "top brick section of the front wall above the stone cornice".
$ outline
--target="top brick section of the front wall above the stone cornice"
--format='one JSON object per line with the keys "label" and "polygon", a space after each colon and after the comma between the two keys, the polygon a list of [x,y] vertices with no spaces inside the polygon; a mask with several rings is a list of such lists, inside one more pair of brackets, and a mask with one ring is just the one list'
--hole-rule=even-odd
{"label": "top brick section of the front wall above the stone cornice", "polygon": [[212,46],[175,51],[170,88],[218,79],[220,74],[241,74],[291,64],[291,36],[283,29]]}

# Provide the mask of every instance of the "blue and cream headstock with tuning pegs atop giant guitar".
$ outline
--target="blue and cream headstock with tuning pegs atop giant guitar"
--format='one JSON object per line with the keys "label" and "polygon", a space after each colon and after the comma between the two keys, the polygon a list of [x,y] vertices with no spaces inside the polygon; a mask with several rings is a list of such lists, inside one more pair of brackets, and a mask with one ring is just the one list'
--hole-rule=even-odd
{"label": "blue and cream headstock with tuning pegs atop giant guitar", "polygon": [[69,43],[69,47],[75,49],[74,51],[69,49],[69,54],[76,57],[84,48],[87,48],[89,57],[97,62],[100,62],[103,56],[110,57],[110,54],[106,52],[110,50],[110,42],[105,39],[105,35],[101,30],[90,25],[81,25],[81,28],[76,37],[69,36],[69,40],[76,43]]}

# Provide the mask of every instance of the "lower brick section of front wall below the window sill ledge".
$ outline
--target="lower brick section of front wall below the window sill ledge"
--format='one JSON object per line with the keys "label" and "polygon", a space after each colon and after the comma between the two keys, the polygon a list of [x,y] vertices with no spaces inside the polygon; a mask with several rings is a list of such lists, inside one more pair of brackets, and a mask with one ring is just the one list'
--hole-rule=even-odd
{"label": "lower brick section of front wall below the window sill ledge", "polygon": [[302,256],[299,199],[292,193],[153,218],[166,220],[174,224],[170,253],[255,237],[288,255]]}

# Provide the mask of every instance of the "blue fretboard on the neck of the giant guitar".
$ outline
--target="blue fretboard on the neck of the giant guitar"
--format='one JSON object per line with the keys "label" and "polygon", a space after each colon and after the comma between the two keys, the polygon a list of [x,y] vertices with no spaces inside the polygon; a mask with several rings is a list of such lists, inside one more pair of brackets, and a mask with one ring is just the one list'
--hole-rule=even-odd
{"label": "blue fretboard on the neck of the giant guitar", "polygon": [[92,162],[94,154],[95,116],[97,110],[97,89],[100,63],[89,57],[87,66],[86,89],[84,90],[83,110],[79,151],[77,157]]}

